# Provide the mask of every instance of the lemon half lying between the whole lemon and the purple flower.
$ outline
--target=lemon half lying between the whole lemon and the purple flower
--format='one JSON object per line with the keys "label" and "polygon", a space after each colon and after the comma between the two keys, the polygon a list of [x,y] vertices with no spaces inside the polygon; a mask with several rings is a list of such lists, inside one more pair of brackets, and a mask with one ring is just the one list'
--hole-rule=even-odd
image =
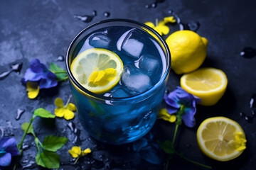
{"label": "lemon half lying between the whole lemon and the purple flower", "polygon": [[194,72],[183,74],[181,87],[188,93],[201,98],[201,105],[213,106],[225,93],[228,78],[220,69],[201,68]]}

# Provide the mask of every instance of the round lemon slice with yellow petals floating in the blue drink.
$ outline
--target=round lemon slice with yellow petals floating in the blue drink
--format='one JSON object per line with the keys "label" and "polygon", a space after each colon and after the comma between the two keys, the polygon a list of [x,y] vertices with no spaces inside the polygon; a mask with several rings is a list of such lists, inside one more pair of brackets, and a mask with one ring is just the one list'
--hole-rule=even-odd
{"label": "round lemon slice with yellow petals floating in the blue drink", "polygon": [[123,63],[117,54],[102,48],[81,52],[71,64],[75,79],[95,94],[110,91],[120,79]]}

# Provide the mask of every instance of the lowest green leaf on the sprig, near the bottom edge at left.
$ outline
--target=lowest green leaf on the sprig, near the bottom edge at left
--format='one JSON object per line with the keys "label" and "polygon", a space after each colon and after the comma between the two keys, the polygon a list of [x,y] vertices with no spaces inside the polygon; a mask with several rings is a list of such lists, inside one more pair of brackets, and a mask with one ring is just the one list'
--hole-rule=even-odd
{"label": "lowest green leaf on the sprig, near the bottom edge at left", "polygon": [[60,168],[60,157],[55,152],[43,150],[36,154],[36,164],[48,169]]}

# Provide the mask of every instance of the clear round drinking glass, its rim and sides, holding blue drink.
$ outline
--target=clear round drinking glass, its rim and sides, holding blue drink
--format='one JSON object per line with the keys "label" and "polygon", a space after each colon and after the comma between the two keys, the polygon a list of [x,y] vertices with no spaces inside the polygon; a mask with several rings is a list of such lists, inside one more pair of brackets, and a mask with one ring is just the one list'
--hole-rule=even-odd
{"label": "clear round drinking glass, its rim and sides, holding blue drink", "polygon": [[[159,81],[154,86],[141,94],[110,97],[88,91],[75,79],[70,69],[72,61],[80,52],[91,48],[87,45],[88,38],[102,28],[106,30],[108,28],[137,29],[154,42],[163,64],[161,75],[158,75]],[[115,33],[110,35],[111,41],[117,41],[118,38],[114,36],[116,36]],[[136,34],[134,36],[136,38]],[[126,19],[100,21],[78,33],[68,47],[66,67],[78,118],[89,135],[112,145],[133,142],[146,135],[153,127],[161,106],[169,77],[170,62],[171,56],[166,42],[154,29],[137,21]]]}

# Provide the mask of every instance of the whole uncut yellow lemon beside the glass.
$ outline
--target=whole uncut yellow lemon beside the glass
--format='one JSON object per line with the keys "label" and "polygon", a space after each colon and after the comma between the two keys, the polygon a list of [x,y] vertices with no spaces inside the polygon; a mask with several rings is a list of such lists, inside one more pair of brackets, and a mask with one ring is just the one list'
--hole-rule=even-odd
{"label": "whole uncut yellow lemon beside the glass", "polygon": [[192,72],[206,59],[208,40],[191,30],[178,30],[168,38],[171,68],[176,74]]}

